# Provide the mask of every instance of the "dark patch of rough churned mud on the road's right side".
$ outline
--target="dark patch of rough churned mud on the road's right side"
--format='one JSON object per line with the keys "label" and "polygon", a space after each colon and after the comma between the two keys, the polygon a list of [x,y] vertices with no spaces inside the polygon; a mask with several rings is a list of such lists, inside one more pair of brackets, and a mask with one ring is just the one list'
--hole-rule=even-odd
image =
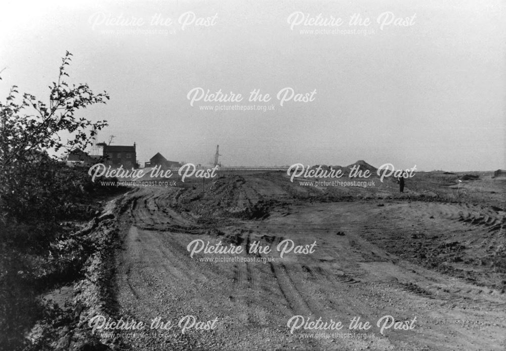
{"label": "dark patch of rough churned mud on the road's right side", "polygon": [[387,252],[466,281],[492,288],[500,284],[500,273],[493,268],[501,265],[501,253],[495,248],[504,245],[502,211],[470,204],[413,202],[394,204],[376,218],[363,236]]}

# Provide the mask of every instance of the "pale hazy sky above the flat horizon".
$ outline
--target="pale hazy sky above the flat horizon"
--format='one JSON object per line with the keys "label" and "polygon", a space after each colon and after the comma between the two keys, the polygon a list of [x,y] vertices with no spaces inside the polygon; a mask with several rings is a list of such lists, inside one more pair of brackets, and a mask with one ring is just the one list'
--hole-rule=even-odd
{"label": "pale hazy sky above the flat horizon", "polygon": [[[495,170],[506,168],[504,15],[499,0],[17,0],[0,13],[0,92],[47,95],[68,50],[69,82],[111,96],[78,116],[108,120],[99,141],[136,142],[143,162],[207,164],[220,144],[224,166]],[[194,88],[242,101],[197,94],[191,106]],[[270,101],[249,102],[252,89]],[[204,110],[217,105],[267,111]]]}

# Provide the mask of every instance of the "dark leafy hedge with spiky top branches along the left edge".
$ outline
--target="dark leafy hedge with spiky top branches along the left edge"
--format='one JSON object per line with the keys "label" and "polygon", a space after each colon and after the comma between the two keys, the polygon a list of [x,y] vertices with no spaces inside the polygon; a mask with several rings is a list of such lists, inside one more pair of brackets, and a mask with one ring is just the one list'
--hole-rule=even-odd
{"label": "dark leafy hedge with spiky top branches along the left edge", "polygon": [[[98,210],[98,187],[85,169],[68,168],[62,157],[85,149],[105,127],[75,112],[105,103],[87,84],[70,86],[66,53],[47,102],[13,86],[0,102],[0,348],[22,349],[25,333],[48,309],[41,293],[79,277],[87,243],[72,237]],[[0,78],[1,79],[1,78]],[[62,134],[70,135],[63,140]],[[50,156],[54,155],[54,156]],[[58,155],[59,157],[57,157]],[[88,250],[89,252],[91,250]]]}

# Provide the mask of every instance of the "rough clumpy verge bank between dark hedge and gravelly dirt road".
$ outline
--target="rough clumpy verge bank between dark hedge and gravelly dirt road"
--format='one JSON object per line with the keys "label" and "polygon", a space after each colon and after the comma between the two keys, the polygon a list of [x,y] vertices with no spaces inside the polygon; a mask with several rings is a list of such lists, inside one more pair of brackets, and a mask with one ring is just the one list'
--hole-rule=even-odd
{"label": "rough clumpy verge bank between dark hedge and gravelly dirt road", "polygon": [[62,246],[71,246],[69,254],[83,261],[82,266],[71,267],[79,270],[82,279],[43,296],[44,318],[27,334],[31,345],[26,350],[124,349],[120,340],[93,334],[88,323],[94,316],[117,315],[114,252],[119,247],[122,230],[117,214],[121,213],[125,196],[128,193],[108,202],[85,227],[60,242]]}

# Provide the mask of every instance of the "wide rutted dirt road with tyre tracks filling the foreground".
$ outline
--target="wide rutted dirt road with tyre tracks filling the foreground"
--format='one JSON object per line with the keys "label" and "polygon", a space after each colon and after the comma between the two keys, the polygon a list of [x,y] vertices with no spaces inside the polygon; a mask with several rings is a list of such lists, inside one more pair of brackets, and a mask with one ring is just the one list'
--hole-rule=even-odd
{"label": "wide rutted dirt road with tyre tracks filling the foreground", "polygon": [[[506,348],[502,211],[395,198],[388,185],[341,189],[354,200],[326,202],[325,189],[281,175],[222,177],[206,186],[205,193],[136,189],[121,200],[119,314],[172,322],[123,336],[132,349]],[[257,241],[272,251],[190,257],[187,247],[198,239],[245,249]],[[286,239],[316,244],[312,253],[292,249],[281,258],[276,247]],[[184,320],[182,333],[185,316],[195,320]],[[384,316],[411,329],[381,333],[376,322]],[[343,328],[292,330],[292,317]],[[354,317],[371,327],[350,330]]]}

